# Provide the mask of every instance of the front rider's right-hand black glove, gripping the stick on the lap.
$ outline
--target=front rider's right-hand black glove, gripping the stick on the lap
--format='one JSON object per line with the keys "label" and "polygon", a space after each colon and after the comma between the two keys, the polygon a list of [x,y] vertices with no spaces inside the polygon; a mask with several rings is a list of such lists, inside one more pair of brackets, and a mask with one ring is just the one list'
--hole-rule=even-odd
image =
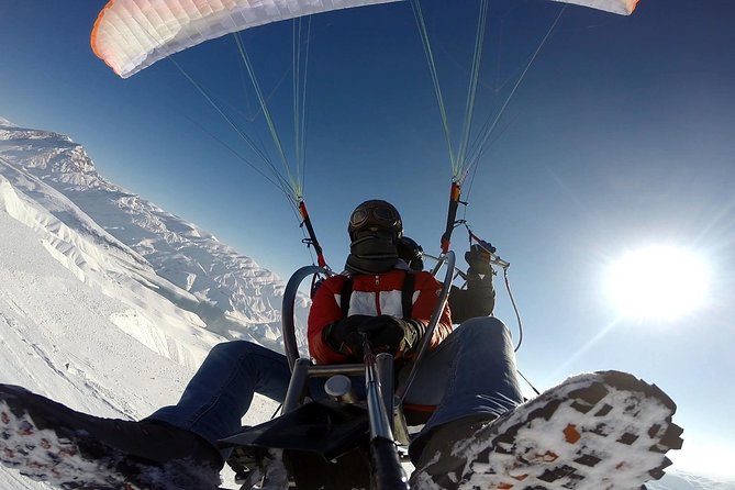
{"label": "front rider's right-hand black glove, gripping the stick on the lap", "polygon": [[374,352],[405,357],[416,349],[426,326],[419,320],[380,315],[369,318],[357,330],[367,335]]}

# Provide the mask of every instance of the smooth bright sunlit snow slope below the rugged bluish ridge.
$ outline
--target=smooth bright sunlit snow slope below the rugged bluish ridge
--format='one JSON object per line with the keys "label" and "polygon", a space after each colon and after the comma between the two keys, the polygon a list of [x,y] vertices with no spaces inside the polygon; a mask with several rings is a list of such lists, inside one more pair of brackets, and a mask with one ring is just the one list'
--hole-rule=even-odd
{"label": "smooth bright sunlit snow slope below the rugged bluish ridge", "polygon": [[[175,403],[222,341],[143,286],[155,275],[140,260],[68,229],[2,176],[0,237],[0,382],[136,420]],[[258,399],[248,423],[272,411]],[[0,467],[0,488],[48,487]]]}

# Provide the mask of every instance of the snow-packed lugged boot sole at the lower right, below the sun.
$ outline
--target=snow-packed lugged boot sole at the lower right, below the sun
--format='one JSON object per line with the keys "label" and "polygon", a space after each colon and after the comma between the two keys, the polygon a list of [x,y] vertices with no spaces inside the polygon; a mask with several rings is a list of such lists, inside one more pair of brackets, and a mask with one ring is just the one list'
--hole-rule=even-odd
{"label": "snow-packed lugged boot sole at the lower right, below the sun", "polygon": [[681,447],[675,412],[666,393],[632,375],[575,376],[468,437],[430,441],[411,489],[638,489]]}

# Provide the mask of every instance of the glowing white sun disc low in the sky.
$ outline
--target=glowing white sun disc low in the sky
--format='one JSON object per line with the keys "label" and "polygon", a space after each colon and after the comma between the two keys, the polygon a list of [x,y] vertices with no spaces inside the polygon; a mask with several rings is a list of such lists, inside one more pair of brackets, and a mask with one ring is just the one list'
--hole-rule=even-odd
{"label": "glowing white sun disc low in the sky", "polygon": [[613,263],[606,283],[622,316],[670,321],[702,305],[708,267],[684,248],[655,245],[630,252]]}

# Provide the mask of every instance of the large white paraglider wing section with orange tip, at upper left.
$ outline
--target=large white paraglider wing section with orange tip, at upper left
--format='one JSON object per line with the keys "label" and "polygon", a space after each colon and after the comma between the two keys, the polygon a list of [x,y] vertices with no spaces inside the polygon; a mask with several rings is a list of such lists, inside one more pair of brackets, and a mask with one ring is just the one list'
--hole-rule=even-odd
{"label": "large white paraglider wing section with orange tip, at upper left", "polygon": [[110,0],[92,30],[94,54],[122,78],[174,53],[256,25],[399,0]]}

